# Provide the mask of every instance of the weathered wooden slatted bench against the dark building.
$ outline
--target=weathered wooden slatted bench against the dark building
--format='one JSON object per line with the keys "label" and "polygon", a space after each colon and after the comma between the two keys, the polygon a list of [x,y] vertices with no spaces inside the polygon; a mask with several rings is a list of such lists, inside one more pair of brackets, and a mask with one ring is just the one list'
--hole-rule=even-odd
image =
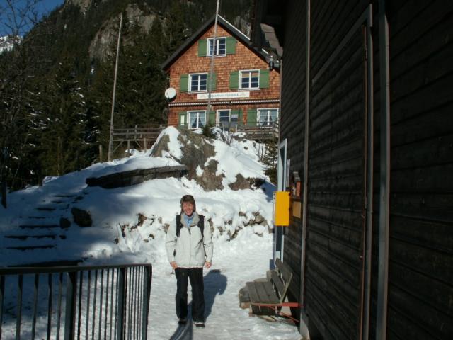
{"label": "weathered wooden slatted bench against the dark building", "polygon": [[[291,315],[281,311],[282,307],[300,307],[299,302],[285,302],[293,276],[292,270],[280,259],[275,261],[275,266],[277,268],[270,271],[269,280],[246,283],[252,313],[257,315],[280,314],[294,319]],[[294,321],[299,322],[296,319]]]}

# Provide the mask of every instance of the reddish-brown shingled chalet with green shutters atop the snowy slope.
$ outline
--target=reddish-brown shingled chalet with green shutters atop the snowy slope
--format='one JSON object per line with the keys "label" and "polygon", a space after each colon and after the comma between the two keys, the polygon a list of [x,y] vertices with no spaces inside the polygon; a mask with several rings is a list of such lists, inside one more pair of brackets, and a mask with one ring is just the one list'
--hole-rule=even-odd
{"label": "reddish-brown shingled chalet with green shutters atop the snowy slope", "polygon": [[278,64],[264,50],[253,48],[248,37],[222,16],[214,43],[214,18],[162,65],[169,86],[176,90],[168,103],[168,125],[272,128],[280,108]]}

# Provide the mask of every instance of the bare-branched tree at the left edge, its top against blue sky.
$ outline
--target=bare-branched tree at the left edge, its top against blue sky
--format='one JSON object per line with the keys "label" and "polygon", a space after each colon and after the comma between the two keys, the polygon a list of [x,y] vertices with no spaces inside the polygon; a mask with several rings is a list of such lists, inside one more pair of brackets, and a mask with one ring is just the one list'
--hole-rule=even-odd
{"label": "bare-branched tree at the left edge, its top against blue sky", "polygon": [[20,164],[17,155],[26,143],[29,117],[25,113],[30,97],[26,84],[33,75],[31,65],[36,63],[30,62],[35,55],[26,47],[25,34],[38,22],[40,1],[4,0],[0,4],[0,29],[12,44],[0,55],[0,182],[4,208],[7,182],[15,179]]}

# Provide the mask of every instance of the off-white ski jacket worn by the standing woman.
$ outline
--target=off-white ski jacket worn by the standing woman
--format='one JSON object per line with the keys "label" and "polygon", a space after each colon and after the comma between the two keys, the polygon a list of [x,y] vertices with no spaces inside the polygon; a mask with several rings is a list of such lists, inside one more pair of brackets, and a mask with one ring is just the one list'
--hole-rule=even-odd
{"label": "off-white ski jacket worn by the standing woman", "polygon": [[166,237],[166,251],[169,262],[176,261],[178,267],[200,268],[205,262],[212,262],[213,244],[210,224],[205,220],[203,237],[198,227],[197,212],[193,212],[193,220],[188,226],[185,218],[181,215],[182,227],[179,237],[176,237],[176,218],[168,228]]}

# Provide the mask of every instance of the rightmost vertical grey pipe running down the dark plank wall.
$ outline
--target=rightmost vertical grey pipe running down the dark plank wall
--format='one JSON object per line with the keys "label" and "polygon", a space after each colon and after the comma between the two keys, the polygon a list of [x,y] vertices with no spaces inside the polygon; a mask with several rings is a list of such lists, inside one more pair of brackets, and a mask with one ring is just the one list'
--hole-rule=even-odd
{"label": "rightmost vertical grey pipe running down the dark plank wall", "polygon": [[389,23],[385,0],[379,0],[379,69],[381,88],[381,171],[379,191],[379,263],[377,276],[376,339],[386,339],[389,285],[389,200],[390,200],[390,72]]}

